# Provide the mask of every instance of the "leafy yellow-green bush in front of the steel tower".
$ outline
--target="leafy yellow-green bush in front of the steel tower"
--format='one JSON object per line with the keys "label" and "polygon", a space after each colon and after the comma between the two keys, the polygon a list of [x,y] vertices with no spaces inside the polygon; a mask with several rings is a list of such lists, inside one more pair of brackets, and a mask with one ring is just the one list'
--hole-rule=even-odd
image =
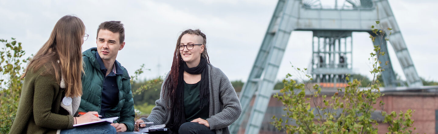
{"label": "leafy yellow-green bush in front of the steel tower", "polygon": [[[379,24],[379,21],[376,21],[376,24]],[[348,77],[350,75],[347,75],[348,85],[327,98],[327,95],[321,94],[318,85],[314,85],[313,88],[307,87],[304,81],[297,83],[291,79],[291,74],[287,74],[286,79],[283,80],[284,88],[280,91],[283,95],[278,93],[274,95],[283,102],[285,106],[283,110],[286,111],[286,115],[283,115],[286,120],[272,117],[275,120],[272,124],[278,130],[284,129],[287,134],[377,134],[378,123],[371,118],[371,113],[376,110],[375,104],[384,105],[382,101],[377,102],[378,98],[384,95],[380,92],[381,84],[377,79],[384,70],[378,64],[381,63],[379,57],[385,55],[385,52],[381,52],[380,46],[383,41],[389,39],[383,40],[384,30],[375,29],[374,25],[371,28],[376,35],[375,37],[371,35],[371,40],[374,42],[375,38],[381,38],[382,41],[380,45],[374,46],[373,53],[370,53],[369,60],[373,63],[373,69],[370,71],[373,75],[371,84],[365,89],[360,89],[360,81],[357,79],[350,81]],[[392,29],[387,28],[387,30]],[[388,61],[385,62],[387,63]],[[296,70],[299,74],[305,74],[304,70],[307,69],[296,68]],[[305,76],[312,80],[311,76],[307,74]],[[306,95],[306,90],[310,95]],[[311,103],[315,108],[311,107]],[[400,111],[398,115],[396,112],[391,114],[382,112],[385,117],[383,122],[389,124],[387,134],[411,134],[412,113],[411,109],[406,113]],[[295,121],[296,125],[287,124],[290,121]]]}

